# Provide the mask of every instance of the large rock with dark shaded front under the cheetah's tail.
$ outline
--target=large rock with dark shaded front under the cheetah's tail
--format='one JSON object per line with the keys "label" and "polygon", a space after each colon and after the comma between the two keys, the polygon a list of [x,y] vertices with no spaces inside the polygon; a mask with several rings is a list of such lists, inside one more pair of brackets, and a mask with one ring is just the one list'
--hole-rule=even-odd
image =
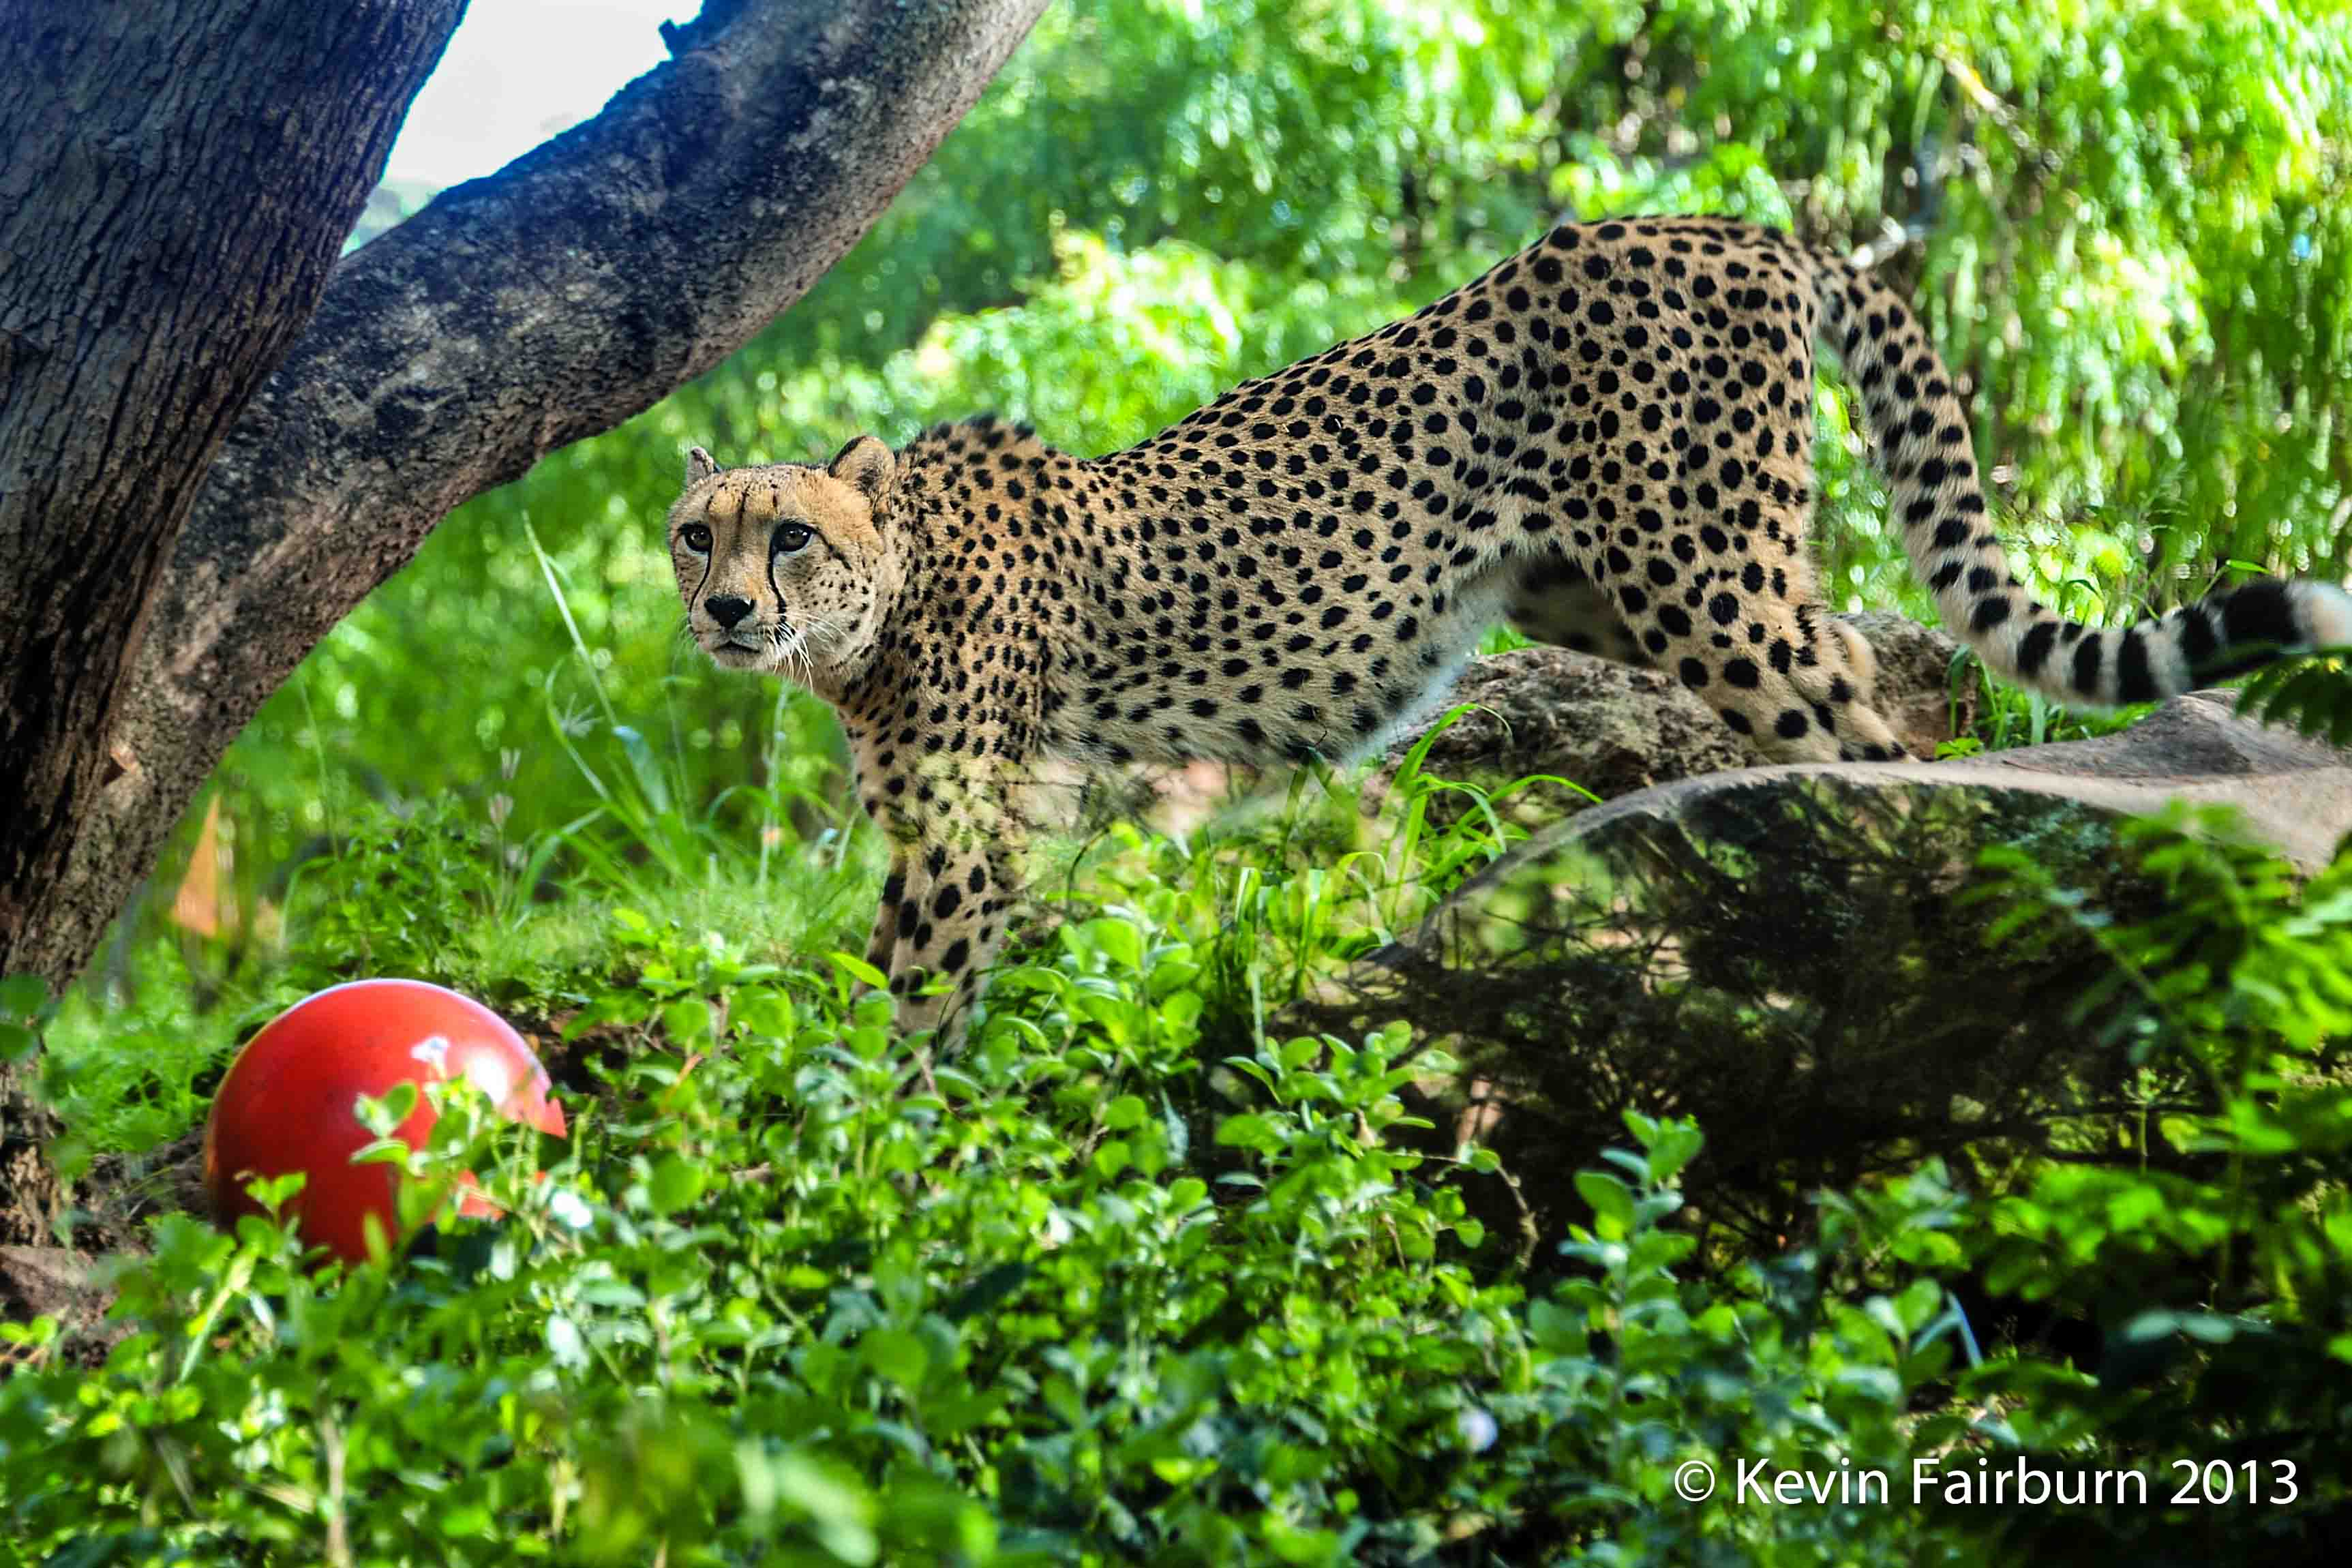
{"label": "large rock with dark shaded front under the cheetah's tail", "polygon": [[1557,1229],[1625,1110],[1677,1112],[1710,1140],[1700,1218],[1769,1244],[1818,1187],[1922,1154],[1997,1164],[2145,1098],[2082,1013],[2107,969],[2091,940],[1987,945],[1997,905],[1973,893],[1983,846],[2016,844],[2117,917],[2152,912],[2114,823],[2171,799],[2237,806],[2317,867],[2352,830],[2352,766],[2194,693],[2100,741],[1682,778],[1541,830],[1284,1025],[1404,1018],[1449,1048],[1463,1065],[1421,1110],[1442,1152],[1479,1135],[1522,1175],[1489,1194],[1496,1220],[1524,1197]]}

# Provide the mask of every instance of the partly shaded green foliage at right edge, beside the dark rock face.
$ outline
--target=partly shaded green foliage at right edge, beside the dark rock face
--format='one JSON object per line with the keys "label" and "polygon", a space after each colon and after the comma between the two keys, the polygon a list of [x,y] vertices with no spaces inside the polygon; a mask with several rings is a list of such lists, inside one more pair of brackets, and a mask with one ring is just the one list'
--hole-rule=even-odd
{"label": "partly shaded green foliage at right edge, beside the dark rock face", "polygon": [[[1966,1237],[1987,1288],[2096,1326],[2098,1375],[2016,1359],[1980,1387],[2042,1453],[2112,1443],[2237,1465],[2241,1486],[2343,1488],[2352,858],[2298,882],[2213,809],[2131,823],[2124,846],[2164,891],[2136,924],[2030,856],[1987,853],[2006,875],[1992,938],[2065,929],[2103,950],[2079,1020],[2131,1053],[2147,1098],[2105,1157],[2032,1171]],[[2105,1526],[2129,1540],[2150,1521]]]}

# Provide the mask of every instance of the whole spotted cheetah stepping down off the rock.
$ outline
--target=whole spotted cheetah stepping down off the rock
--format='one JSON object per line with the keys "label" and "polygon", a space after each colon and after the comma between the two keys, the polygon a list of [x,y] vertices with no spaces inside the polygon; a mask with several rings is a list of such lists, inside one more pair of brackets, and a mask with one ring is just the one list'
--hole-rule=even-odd
{"label": "whole spotted cheetah stepping down off the rock", "polygon": [[1498,618],[1670,670],[1769,762],[1903,757],[1804,548],[1816,341],[1938,611],[2004,677],[2140,703],[2352,642],[2352,595],[2310,581],[2124,628],[2037,604],[1910,306],[1783,233],[1679,216],[1559,226],[1101,458],[995,416],[826,465],[696,447],[670,557],[710,658],[840,712],[889,842],[868,961],[946,1044],[1004,940],[1035,762],[1341,759]]}

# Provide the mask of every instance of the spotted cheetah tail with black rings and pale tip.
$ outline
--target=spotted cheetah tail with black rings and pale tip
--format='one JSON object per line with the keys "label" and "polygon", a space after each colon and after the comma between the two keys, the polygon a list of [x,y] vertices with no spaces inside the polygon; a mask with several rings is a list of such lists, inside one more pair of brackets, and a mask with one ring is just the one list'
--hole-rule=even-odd
{"label": "spotted cheetah tail with black rings and pale tip", "polygon": [[1813,256],[1823,341],[1863,393],[1912,567],[1945,625],[1999,675],[2072,705],[2150,703],[2288,651],[2352,644],[2352,595],[2256,578],[2157,621],[2096,628],[2037,604],[2009,571],[1952,376],[1919,317],[1835,254]]}

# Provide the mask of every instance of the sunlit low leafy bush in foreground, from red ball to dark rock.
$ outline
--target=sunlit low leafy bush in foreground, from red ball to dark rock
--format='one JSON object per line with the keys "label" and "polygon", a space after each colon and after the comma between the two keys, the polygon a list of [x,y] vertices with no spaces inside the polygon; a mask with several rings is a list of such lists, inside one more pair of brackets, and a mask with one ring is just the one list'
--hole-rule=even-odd
{"label": "sunlit low leafy bush in foreground, from red ball to dark rock", "polygon": [[644,978],[604,1018],[675,1051],[600,1072],[548,1182],[473,1095],[407,1159],[412,1213],[475,1171],[503,1218],[325,1274],[261,1220],[169,1218],[103,1368],[0,1331],[26,1361],[0,1389],[16,1542],[1315,1563],[1722,1535],[1708,1559],[1835,1561],[1844,1523],[1691,1512],[1661,1462],[1893,1453],[1943,1363],[1933,1288],[1820,1316],[1797,1260],[1686,1291],[1663,1229],[1686,1124],[1632,1124],[1639,1152],[1581,1182],[1569,1274],[1529,1295],[1451,1180],[1491,1157],[1390,1143],[1397,1086],[1444,1070],[1399,1067],[1397,1034],[1225,1058],[1247,1093],[1197,1135],[1200,971],[1145,912],[1063,926],[1035,966],[1056,1001],[953,1067],[823,971],[642,917],[614,936]]}

